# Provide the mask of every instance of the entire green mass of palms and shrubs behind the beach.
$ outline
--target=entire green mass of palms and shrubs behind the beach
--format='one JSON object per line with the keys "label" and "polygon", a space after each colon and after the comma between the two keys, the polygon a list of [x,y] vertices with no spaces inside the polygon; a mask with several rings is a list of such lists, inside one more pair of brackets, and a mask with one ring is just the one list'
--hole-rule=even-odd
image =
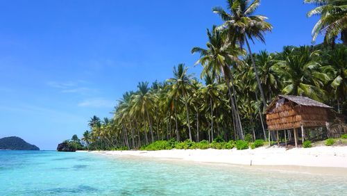
{"label": "entire green mass of palms and shrubs behind the beach", "polygon": [[[305,2],[318,6],[309,16],[321,17],[313,39],[316,32],[325,33],[335,43],[330,38],[337,32],[345,35],[346,1]],[[307,96],[346,115],[345,40],[333,48],[318,44],[253,53],[249,42],[265,42],[264,33],[273,28],[265,16],[254,15],[259,6],[259,0],[235,0],[227,1],[227,10],[213,8],[221,25],[207,30],[205,47],[192,48],[192,54],[199,54],[196,65],[203,67],[200,77],[180,63],[165,81],[139,82],[136,91],[124,92],[111,119],[90,119],[83,145],[150,150],[246,149],[248,143],[259,147],[259,139],[267,140],[264,108],[278,94]]]}

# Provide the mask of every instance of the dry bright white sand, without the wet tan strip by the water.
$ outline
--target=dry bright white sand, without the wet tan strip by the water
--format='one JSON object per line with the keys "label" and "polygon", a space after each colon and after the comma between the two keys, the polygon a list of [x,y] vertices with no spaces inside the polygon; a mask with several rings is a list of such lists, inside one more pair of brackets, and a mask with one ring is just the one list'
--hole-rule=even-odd
{"label": "dry bright white sand, without the wet tan strip by the water", "polygon": [[257,149],[171,149],[160,151],[103,151],[114,156],[146,158],[175,158],[203,163],[230,163],[235,165],[294,165],[347,170],[347,146],[292,148],[260,147]]}

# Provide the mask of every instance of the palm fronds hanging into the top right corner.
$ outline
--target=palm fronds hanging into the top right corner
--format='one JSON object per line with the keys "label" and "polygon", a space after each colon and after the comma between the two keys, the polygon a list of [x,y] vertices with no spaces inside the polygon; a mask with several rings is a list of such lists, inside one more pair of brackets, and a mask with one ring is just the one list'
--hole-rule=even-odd
{"label": "palm fronds hanging into the top right corner", "polygon": [[312,42],[319,33],[324,33],[324,42],[335,46],[335,38],[341,33],[341,40],[347,44],[347,1],[346,0],[305,0],[314,3],[316,8],[307,13],[307,17],[319,15],[319,21],[312,29]]}

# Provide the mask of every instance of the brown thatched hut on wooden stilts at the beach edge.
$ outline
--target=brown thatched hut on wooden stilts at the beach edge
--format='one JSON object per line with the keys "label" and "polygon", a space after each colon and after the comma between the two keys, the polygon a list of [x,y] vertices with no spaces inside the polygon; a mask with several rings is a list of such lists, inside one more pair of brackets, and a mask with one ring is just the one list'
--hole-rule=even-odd
{"label": "brown thatched hut on wooden stilts at the beach edge", "polygon": [[[278,136],[278,131],[293,129],[297,147],[297,129],[301,128],[302,140],[304,141],[304,128],[327,126],[330,109],[330,106],[307,97],[278,95],[265,111],[269,135],[270,131],[277,131]],[[285,138],[285,140],[287,139]]]}

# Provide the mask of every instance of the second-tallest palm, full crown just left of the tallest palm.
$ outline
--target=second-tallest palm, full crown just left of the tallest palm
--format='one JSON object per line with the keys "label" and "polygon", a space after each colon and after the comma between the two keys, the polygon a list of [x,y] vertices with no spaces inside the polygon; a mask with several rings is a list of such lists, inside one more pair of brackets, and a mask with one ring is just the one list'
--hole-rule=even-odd
{"label": "second-tallest palm, full crown just left of the tallest palm", "polygon": [[[200,59],[196,61],[197,64],[203,66],[203,71],[201,75],[211,74],[211,76],[219,77],[223,76],[223,79],[228,88],[228,93],[230,96],[230,102],[232,106],[233,119],[235,120],[235,126],[237,133],[239,133],[239,138],[244,138],[244,133],[242,130],[241,120],[237,112],[236,101],[234,99],[235,91],[232,92],[230,82],[232,83],[232,74],[230,71],[230,65],[232,63],[241,64],[242,61],[239,60],[239,56],[244,54],[243,50],[231,44],[230,42],[225,42],[225,34],[217,31],[216,27],[212,27],[212,32],[208,29],[208,43],[206,46],[208,49],[203,49],[200,47],[194,47],[192,49],[192,54],[198,52],[200,53]],[[233,86],[233,84],[232,84]]]}

